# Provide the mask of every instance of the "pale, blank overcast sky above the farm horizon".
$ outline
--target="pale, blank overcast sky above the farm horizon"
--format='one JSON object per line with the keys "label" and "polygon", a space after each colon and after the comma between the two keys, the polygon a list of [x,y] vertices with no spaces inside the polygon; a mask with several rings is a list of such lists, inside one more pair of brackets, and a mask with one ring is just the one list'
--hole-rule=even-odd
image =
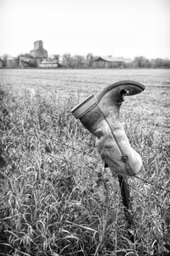
{"label": "pale, blank overcast sky above the farm horizon", "polygon": [[0,55],[170,58],[170,0],[0,0]]}

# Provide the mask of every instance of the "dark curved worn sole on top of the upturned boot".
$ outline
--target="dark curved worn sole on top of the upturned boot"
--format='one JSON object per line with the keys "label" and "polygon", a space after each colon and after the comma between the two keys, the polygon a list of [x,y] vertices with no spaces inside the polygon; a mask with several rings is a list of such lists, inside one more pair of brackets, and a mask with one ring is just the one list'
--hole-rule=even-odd
{"label": "dark curved worn sole on top of the upturned boot", "polygon": [[126,90],[126,88],[123,88],[123,85],[132,85],[132,87],[136,87],[139,88],[139,90],[137,90],[137,92],[130,92],[128,90],[128,92],[125,94],[126,96],[132,96],[132,95],[137,95],[138,93],[142,92],[143,90],[145,90],[145,85],[140,84],[140,82],[135,82],[135,81],[131,81],[131,80],[124,80],[124,81],[120,81],[120,82],[115,82],[113,85],[108,85],[108,87],[106,87],[96,98],[98,100],[98,102],[101,101],[101,99],[103,98],[104,95],[106,95],[107,92],[109,92],[110,90],[113,90],[115,87],[119,87],[121,86],[121,91]]}

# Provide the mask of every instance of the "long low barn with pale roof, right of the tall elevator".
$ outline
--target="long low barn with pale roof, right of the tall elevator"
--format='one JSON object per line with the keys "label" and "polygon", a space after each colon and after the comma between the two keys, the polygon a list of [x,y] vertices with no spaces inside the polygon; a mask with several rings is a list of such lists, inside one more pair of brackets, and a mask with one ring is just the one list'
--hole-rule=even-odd
{"label": "long low barn with pale roof, right of the tall elevator", "polygon": [[113,58],[112,56],[103,56],[94,60],[94,68],[116,68],[130,61],[130,59],[123,57]]}

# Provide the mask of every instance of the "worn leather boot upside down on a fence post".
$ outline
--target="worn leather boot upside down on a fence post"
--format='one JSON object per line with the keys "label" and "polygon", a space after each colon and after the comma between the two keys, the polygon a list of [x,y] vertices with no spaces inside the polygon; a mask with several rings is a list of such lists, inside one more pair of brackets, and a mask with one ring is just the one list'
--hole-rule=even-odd
{"label": "worn leather boot upside down on a fence post", "polygon": [[119,111],[124,96],[136,95],[145,86],[134,81],[120,81],[106,87],[97,97],[90,95],[72,109],[74,117],[96,135],[96,148],[109,168],[121,176],[135,176],[142,159],[130,146]]}

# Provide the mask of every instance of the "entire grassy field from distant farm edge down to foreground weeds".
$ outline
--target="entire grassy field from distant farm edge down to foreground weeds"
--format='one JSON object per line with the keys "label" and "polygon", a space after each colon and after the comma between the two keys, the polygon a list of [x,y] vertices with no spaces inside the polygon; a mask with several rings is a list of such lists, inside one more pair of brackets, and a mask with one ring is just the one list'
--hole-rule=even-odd
{"label": "entire grassy field from distant farm edge down to foreground weeds", "polygon": [[[146,86],[120,110],[150,182],[128,178],[135,242],[117,176],[70,113],[119,80]],[[0,89],[0,255],[169,255],[170,194],[152,183],[170,188],[170,70],[0,70]]]}

